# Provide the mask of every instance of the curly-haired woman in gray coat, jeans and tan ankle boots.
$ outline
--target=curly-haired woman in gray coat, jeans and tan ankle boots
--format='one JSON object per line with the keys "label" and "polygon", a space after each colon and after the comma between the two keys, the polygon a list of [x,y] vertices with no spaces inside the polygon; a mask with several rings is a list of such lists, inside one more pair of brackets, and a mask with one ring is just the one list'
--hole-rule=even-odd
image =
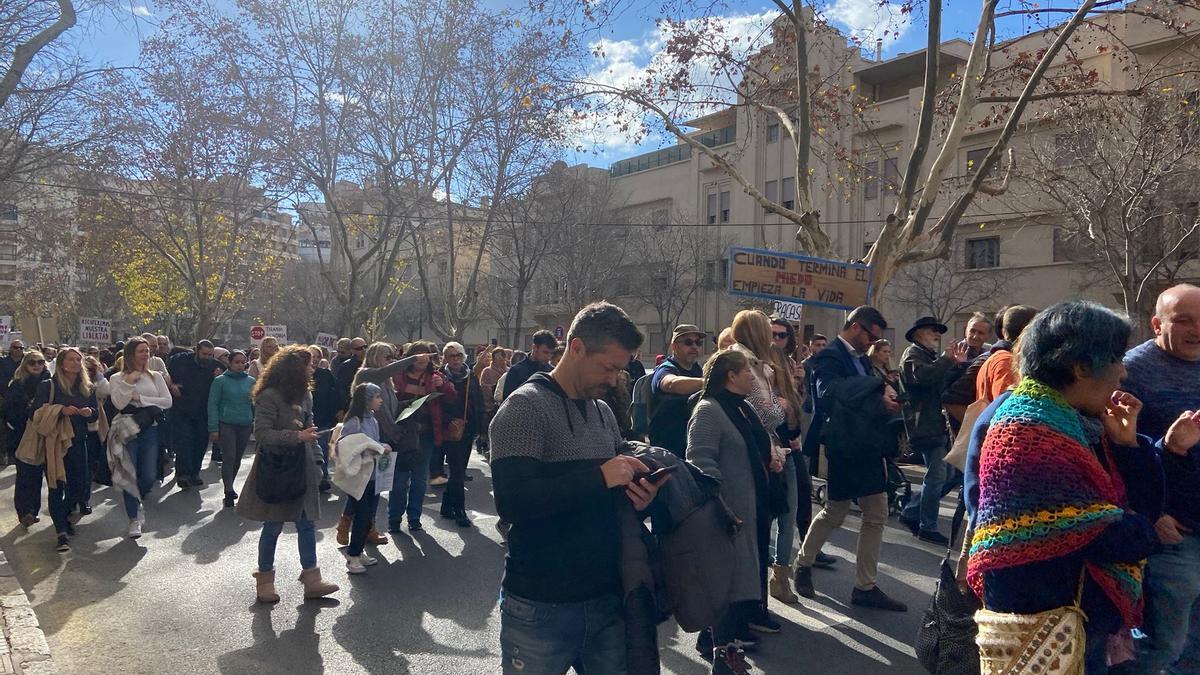
{"label": "curly-haired woman in gray coat, jeans and tan ankle boots", "polygon": [[[337,591],[337,585],[320,578],[317,567],[317,530],[320,515],[318,485],[322,478],[322,454],[317,446],[317,428],[312,423],[313,363],[308,350],[299,346],[283,348],[263,369],[254,383],[254,441],[258,453],[250,467],[250,476],[238,501],[238,514],[263,521],[258,538],[259,602],[280,601],[275,592],[275,544],[284,522],[295,522],[300,538],[300,583],[305,598],[319,598]],[[259,460],[268,453],[302,452],[308,459],[304,495],[286,502],[268,503],[258,496],[259,480],[277,477],[262,472]]]}

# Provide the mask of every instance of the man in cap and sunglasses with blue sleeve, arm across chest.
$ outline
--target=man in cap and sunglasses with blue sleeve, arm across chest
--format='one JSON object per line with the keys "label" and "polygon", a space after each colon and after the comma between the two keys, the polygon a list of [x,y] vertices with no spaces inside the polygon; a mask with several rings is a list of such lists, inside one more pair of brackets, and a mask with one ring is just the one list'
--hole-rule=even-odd
{"label": "man in cap and sunglasses with blue sleeve, arm across chest", "polygon": [[704,384],[700,364],[704,333],[685,323],[671,331],[671,356],[654,369],[650,378],[650,444],[683,458],[688,447],[688,396]]}

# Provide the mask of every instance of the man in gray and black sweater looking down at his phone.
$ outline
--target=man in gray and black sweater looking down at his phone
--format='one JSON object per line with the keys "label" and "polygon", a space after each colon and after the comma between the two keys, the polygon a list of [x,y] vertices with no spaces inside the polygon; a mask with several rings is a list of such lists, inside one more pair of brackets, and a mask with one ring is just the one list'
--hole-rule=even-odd
{"label": "man in gray and black sweater looking down at his phone", "polygon": [[620,307],[594,303],[566,352],[504,400],[490,428],[496,510],[511,524],[500,593],[503,671],[623,674],[619,500],[643,510],[664,480],[617,455],[600,400],[641,346]]}

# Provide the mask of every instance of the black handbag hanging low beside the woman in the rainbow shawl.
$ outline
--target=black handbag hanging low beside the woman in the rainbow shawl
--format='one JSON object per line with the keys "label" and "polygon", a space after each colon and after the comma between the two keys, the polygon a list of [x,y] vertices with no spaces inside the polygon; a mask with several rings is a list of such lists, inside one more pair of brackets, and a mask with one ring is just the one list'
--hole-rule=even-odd
{"label": "black handbag hanging low beside the woman in the rainbow shawl", "polygon": [[964,592],[950,563],[954,537],[966,509],[961,502],[954,513],[950,545],[942,560],[942,573],[929,601],[925,615],[917,631],[917,659],[934,675],[978,675],[979,647],[976,645],[978,628],[974,613],[979,599],[974,593]]}

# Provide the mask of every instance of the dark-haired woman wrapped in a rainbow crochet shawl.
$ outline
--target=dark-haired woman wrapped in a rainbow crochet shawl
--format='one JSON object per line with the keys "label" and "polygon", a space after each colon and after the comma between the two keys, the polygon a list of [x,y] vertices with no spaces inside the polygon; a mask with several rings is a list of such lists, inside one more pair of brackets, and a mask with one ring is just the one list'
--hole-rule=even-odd
{"label": "dark-haired woman wrapped in a rainbow crochet shawl", "polygon": [[1038,315],[978,462],[967,581],[986,609],[1028,615],[1074,604],[1082,579],[1087,675],[1106,673],[1110,647],[1141,622],[1163,498],[1157,455],[1135,432],[1141,402],[1117,389],[1129,336],[1123,317],[1092,303]]}

